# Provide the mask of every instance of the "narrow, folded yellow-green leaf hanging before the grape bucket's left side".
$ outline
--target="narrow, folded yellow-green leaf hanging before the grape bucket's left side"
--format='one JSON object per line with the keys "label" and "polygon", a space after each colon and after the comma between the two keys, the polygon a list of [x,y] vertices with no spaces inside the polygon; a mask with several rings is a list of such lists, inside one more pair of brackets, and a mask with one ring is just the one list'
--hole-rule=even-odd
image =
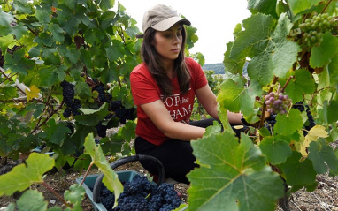
{"label": "narrow, folded yellow-green leaf hanging before the grape bucket's left side", "polygon": [[110,190],[114,192],[115,195],[115,205],[119,198],[119,194],[123,192],[123,185],[119,181],[118,175],[115,171],[111,170],[111,166],[109,162],[106,160],[104,153],[100,146],[96,146],[94,141],[93,133],[90,133],[85,140],[84,143],[85,154],[89,154],[92,159],[92,163],[94,163],[104,174],[104,185]]}

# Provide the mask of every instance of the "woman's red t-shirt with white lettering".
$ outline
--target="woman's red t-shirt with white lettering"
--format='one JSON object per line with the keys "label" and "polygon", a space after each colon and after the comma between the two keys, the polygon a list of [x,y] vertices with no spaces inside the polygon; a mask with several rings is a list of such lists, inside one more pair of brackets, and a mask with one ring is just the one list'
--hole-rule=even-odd
{"label": "woman's red t-shirt with white lettering", "polygon": [[168,109],[169,114],[175,122],[189,124],[189,119],[194,106],[195,90],[204,87],[208,81],[200,64],[192,58],[186,57],[186,64],[190,71],[190,88],[187,94],[180,94],[180,87],[177,78],[172,79],[173,95],[163,100],[163,94],[157,82],[148,71],[147,64],[137,65],[130,74],[130,83],[134,104],[137,106],[136,135],[148,140],[157,146],[163,144],[168,137],[157,129],[150,118],[144,113],[140,105],[162,100]]}

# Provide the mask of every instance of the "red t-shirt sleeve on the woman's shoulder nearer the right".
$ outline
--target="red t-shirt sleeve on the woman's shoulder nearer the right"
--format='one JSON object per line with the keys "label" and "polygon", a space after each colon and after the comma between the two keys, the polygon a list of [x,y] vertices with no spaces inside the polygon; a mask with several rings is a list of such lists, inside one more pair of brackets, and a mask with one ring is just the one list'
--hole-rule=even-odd
{"label": "red t-shirt sleeve on the woman's shoulder nearer the right", "polygon": [[200,64],[198,64],[193,58],[188,57],[187,60],[188,68],[191,72],[191,77],[193,80],[192,86],[193,88],[199,89],[208,84],[208,80],[206,79],[205,73]]}

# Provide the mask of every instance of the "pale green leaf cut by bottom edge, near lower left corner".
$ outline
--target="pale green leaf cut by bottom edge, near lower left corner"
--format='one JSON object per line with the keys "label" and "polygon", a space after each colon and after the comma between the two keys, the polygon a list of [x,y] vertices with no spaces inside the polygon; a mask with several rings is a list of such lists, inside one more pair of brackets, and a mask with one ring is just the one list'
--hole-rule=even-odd
{"label": "pale green leaf cut by bottom edge, near lower left corner", "polygon": [[48,203],[44,200],[42,192],[38,192],[37,190],[27,190],[17,201],[17,206],[20,211],[45,211]]}

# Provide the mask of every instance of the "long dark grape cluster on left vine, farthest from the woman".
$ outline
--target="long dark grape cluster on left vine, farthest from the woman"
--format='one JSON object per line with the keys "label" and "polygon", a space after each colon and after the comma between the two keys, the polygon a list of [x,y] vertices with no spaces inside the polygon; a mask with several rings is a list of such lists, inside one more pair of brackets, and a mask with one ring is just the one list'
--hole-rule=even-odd
{"label": "long dark grape cluster on left vine, farthest from the woman", "polygon": [[80,115],[79,109],[81,108],[81,101],[79,99],[74,99],[75,97],[75,91],[73,84],[67,82],[67,81],[62,81],[61,82],[61,87],[62,87],[62,95],[64,97],[65,101],[65,111],[64,111],[64,117],[68,118],[76,115]]}

